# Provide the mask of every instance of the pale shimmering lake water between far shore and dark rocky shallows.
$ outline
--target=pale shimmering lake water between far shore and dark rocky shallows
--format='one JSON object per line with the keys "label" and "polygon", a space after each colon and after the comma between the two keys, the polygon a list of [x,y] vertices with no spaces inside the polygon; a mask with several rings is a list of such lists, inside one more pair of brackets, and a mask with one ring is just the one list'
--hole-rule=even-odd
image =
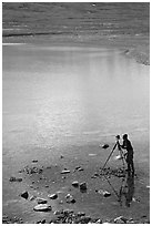
{"label": "pale shimmering lake water between far shore and dark rocky shallows", "polygon": [[149,177],[149,66],[113,49],[21,44],[2,54],[3,189],[32,158],[47,162],[49,148],[55,157],[123,133]]}

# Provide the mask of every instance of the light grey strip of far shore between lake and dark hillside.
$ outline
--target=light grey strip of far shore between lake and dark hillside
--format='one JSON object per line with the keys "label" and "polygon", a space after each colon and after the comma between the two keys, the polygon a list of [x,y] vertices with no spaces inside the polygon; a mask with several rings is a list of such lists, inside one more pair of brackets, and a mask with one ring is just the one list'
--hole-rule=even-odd
{"label": "light grey strip of far shore between lake and dark hillside", "polygon": [[104,47],[123,49],[125,55],[135,59],[138,63],[150,65],[150,39],[148,35],[74,35],[70,34],[50,34],[50,33],[16,33],[6,34],[2,38],[4,43],[39,43],[62,45],[83,45],[83,47]]}

